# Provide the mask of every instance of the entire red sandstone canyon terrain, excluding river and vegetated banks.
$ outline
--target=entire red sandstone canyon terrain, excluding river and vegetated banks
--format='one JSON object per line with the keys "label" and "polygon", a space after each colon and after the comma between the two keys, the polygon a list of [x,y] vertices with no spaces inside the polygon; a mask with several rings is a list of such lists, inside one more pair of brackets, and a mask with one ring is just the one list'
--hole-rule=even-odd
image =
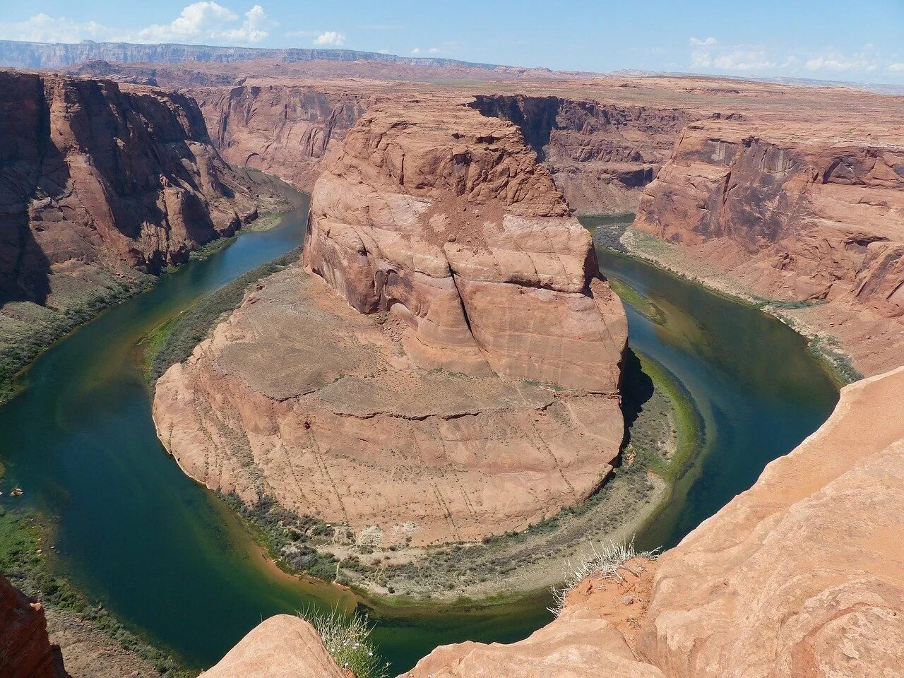
{"label": "entire red sandstone canyon terrain, excluding river and vegetated banks", "polygon": [[[626,318],[573,212],[636,212],[620,246],[870,377],[672,550],[591,576],[530,638],[440,647],[405,675],[899,670],[904,99],[354,52],[84,50],[15,58],[132,63],[0,72],[5,336],[279,209],[258,170],[310,190],[302,261],[165,372],[154,419],[203,485],[328,523],[337,562],[522,531],[617,466]],[[24,610],[27,662],[59,675],[40,608],[0,593]],[[273,617],[209,674],[298,671],[343,673],[306,622]]]}

